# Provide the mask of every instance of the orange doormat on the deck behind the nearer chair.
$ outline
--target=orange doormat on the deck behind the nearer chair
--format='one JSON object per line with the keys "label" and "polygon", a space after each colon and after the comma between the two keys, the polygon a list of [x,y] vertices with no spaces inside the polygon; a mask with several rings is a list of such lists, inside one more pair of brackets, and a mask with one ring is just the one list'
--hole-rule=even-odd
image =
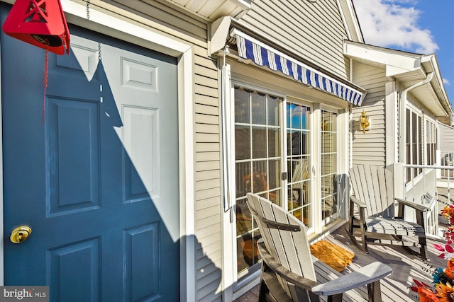
{"label": "orange doormat on the deck behind the nearer chair", "polygon": [[338,272],[342,272],[355,257],[353,252],[349,252],[326,240],[320,240],[311,245],[311,254]]}

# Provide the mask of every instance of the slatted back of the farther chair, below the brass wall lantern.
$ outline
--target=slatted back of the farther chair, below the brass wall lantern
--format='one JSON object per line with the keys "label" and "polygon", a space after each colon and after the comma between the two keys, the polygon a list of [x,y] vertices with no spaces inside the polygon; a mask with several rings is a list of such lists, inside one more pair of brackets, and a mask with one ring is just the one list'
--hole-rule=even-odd
{"label": "slatted back of the farther chair, below the brass wall lantern", "polygon": [[378,165],[355,165],[350,170],[355,197],[367,204],[366,216],[394,217],[392,172]]}

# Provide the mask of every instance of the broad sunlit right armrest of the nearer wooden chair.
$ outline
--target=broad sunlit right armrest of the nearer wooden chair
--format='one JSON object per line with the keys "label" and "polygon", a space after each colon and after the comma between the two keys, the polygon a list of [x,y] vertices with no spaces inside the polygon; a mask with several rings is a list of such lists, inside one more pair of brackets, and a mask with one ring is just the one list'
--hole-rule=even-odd
{"label": "broad sunlit right armrest of the nearer wooden chair", "polygon": [[350,274],[345,274],[333,281],[312,287],[312,292],[319,296],[341,294],[350,289],[373,283],[391,274],[392,268],[382,262],[373,262]]}

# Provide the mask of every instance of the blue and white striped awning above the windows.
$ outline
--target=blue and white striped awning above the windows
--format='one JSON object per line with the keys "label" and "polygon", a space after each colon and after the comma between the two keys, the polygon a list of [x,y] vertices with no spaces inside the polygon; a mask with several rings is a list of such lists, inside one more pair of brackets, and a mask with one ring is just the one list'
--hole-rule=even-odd
{"label": "blue and white striped awning above the windows", "polygon": [[361,105],[365,93],[265,45],[236,28],[231,30],[231,36],[236,37],[238,55],[241,58],[251,59],[259,66],[267,66],[273,71],[281,71],[287,76],[292,76],[304,85],[319,88],[347,102]]}

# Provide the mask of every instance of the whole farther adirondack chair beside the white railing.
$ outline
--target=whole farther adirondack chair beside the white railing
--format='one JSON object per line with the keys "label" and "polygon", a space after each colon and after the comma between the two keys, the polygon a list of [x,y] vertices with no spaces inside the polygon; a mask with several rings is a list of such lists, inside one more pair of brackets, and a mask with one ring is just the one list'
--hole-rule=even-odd
{"label": "whole farther adirondack chair beside the white railing", "polygon": [[[417,247],[422,258],[427,258],[426,231],[423,213],[427,207],[394,197],[394,181],[391,171],[377,165],[355,165],[350,170],[350,184],[354,196],[350,196],[350,226],[348,233],[358,248],[367,251],[367,243]],[[394,215],[394,201],[399,203],[398,215]],[[355,211],[355,206],[358,211]],[[416,210],[416,223],[404,221],[404,209]],[[353,234],[360,228],[360,241]],[[392,238],[384,238],[383,235]],[[418,237],[419,242],[403,236]]]}

